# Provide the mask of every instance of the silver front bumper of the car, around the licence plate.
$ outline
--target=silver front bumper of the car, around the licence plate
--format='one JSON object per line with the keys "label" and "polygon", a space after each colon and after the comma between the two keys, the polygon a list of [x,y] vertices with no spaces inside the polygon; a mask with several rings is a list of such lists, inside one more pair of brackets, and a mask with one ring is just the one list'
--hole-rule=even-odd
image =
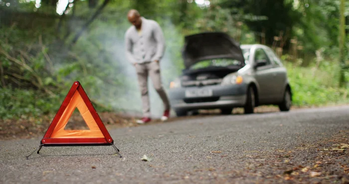
{"label": "silver front bumper of the car, around the licence plate", "polygon": [[[207,97],[186,97],[186,90],[209,89],[212,95]],[[242,107],[246,103],[247,85],[203,86],[173,88],[169,91],[171,106],[174,109],[213,109],[224,107]]]}

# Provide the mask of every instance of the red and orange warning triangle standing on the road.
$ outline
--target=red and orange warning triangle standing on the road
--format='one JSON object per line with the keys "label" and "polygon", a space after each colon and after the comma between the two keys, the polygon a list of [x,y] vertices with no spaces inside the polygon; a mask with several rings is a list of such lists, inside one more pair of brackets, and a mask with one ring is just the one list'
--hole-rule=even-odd
{"label": "red and orange warning triangle standing on the road", "polygon": [[[78,109],[89,130],[64,130]],[[112,145],[114,143],[79,81],[71,86],[44,137],[43,146]]]}

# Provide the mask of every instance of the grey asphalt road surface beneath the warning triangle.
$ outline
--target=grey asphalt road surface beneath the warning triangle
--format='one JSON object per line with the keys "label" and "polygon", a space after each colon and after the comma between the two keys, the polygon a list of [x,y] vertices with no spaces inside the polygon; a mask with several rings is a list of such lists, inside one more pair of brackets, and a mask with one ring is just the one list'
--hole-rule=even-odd
{"label": "grey asphalt road surface beneath the warning triangle", "polygon": [[[43,147],[25,160],[42,137],[1,141],[0,183],[252,183],[254,175],[244,173],[251,158],[316,144],[343,129],[349,129],[349,106],[109,130],[123,158],[111,146]],[[151,160],[141,161],[143,155]]]}

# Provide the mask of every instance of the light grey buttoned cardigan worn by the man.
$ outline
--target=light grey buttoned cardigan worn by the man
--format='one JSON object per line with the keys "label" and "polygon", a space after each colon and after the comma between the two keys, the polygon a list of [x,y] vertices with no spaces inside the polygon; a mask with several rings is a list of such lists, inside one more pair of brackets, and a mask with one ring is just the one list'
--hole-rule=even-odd
{"label": "light grey buttoned cardigan worn by the man", "polygon": [[166,47],[164,33],[155,20],[141,18],[141,35],[135,26],[128,28],[125,33],[126,57],[131,63],[160,61]]}

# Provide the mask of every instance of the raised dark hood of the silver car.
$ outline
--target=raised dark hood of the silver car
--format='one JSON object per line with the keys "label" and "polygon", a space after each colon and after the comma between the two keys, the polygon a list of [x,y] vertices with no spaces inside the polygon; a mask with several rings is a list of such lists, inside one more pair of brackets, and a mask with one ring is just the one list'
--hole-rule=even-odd
{"label": "raised dark hood of the silver car", "polygon": [[245,65],[239,43],[223,32],[202,32],[184,37],[182,58],[185,68],[208,59],[230,58]]}

